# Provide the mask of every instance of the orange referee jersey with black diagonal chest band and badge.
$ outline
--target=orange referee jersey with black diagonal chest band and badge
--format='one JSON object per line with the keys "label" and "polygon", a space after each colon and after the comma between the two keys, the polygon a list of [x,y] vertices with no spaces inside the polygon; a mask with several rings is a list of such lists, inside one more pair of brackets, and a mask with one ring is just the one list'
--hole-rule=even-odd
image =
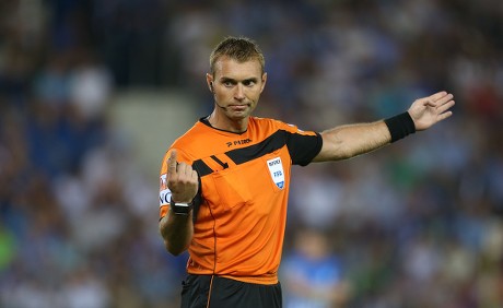
{"label": "orange referee jersey with black diagonal chest band and badge", "polygon": [[169,206],[166,161],[176,149],[200,178],[187,272],[277,283],[291,166],[311,163],[321,143],[316,132],[256,117],[241,134],[201,119],[176,140],[161,168],[160,215]]}

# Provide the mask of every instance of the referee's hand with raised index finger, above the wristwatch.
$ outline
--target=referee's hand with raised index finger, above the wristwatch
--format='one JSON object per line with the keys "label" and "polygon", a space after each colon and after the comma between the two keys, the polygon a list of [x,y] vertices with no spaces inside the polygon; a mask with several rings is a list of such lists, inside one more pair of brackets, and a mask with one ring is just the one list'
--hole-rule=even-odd
{"label": "referee's hand with raised index finger, above the wristwatch", "polygon": [[167,187],[172,192],[173,201],[189,203],[198,191],[198,175],[192,166],[178,163],[176,155],[176,150],[172,150],[167,159]]}

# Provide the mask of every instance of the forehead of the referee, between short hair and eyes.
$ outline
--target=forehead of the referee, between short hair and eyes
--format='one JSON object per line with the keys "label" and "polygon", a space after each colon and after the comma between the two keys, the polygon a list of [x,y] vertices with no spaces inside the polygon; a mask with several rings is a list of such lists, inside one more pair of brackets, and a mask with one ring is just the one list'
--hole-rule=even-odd
{"label": "forehead of the referee, between short hair and eyes", "polygon": [[245,62],[239,62],[229,57],[221,57],[214,66],[214,76],[230,78],[235,80],[245,80],[249,78],[260,79],[262,74],[261,66],[258,59],[250,59]]}

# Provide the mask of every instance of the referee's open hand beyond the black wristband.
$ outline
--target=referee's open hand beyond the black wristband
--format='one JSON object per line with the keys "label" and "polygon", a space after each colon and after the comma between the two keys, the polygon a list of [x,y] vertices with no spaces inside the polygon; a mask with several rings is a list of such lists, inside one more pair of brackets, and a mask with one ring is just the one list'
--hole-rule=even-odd
{"label": "referee's open hand beyond the black wristband", "polygon": [[425,130],[451,117],[453,112],[449,109],[455,104],[453,98],[453,94],[443,91],[416,99],[408,110],[414,121],[416,130]]}

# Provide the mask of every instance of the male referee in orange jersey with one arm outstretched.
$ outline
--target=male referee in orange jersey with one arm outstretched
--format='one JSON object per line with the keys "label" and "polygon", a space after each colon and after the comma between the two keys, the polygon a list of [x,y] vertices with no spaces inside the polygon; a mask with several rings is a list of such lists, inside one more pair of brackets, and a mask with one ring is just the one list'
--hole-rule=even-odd
{"label": "male referee in orange jersey with one arm outstretched", "polygon": [[371,152],[448,118],[454,105],[452,94],[438,92],[389,119],[317,133],[253,117],[266,82],[258,46],[225,38],[207,74],[212,114],[164,157],[160,232],[171,253],[190,254],[182,307],[281,307],[291,166]]}

